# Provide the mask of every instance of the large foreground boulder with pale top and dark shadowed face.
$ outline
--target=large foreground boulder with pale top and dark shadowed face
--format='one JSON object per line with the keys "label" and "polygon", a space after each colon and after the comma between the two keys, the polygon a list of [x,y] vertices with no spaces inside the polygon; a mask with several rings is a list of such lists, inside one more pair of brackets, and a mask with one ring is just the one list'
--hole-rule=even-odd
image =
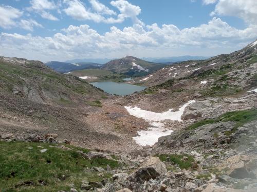
{"label": "large foreground boulder with pale top and dark shadowed face", "polygon": [[158,157],[151,157],[128,176],[128,180],[142,183],[150,179],[156,179],[156,177],[166,173],[167,169],[165,164],[161,162]]}

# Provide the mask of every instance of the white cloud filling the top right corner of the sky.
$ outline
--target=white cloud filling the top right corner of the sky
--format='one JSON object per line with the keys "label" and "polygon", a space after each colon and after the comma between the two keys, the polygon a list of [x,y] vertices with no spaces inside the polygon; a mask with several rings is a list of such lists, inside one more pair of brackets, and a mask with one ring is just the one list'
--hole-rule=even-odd
{"label": "white cloud filling the top right corner of the sky", "polygon": [[239,17],[247,24],[257,25],[257,1],[219,0],[212,15],[214,14]]}

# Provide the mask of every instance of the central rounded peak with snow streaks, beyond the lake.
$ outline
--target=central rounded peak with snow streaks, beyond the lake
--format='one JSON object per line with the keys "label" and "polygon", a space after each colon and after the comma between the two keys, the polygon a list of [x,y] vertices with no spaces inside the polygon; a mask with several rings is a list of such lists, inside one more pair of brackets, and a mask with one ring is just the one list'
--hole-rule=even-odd
{"label": "central rounded peak with snow streaks, beyond the lake", "polygon": [[125,56],[105,63],[101,69],[122,73],[128,76],[144,76],[157,71],[165,65],[145,61],[133,56]]}

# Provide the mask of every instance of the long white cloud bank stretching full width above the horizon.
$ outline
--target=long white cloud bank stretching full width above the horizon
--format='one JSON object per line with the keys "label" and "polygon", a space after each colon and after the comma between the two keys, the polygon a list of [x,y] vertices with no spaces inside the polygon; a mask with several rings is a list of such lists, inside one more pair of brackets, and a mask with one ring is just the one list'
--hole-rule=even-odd
{"label": "long white cloud bank stretching full width above the horizon", "polygon": [[[76,57],[118,57],[130,52],[138,56],[157,56],[174,52],[213,55],[224,50],[235,50],[257,36],[254,25],[241,30],[229,26],[220,18],[208,24],[179,29],[175,25],[140,24],[123,30],[111,27],[99,34],[88,25],[69,26],[50,37],[1,33],[0,54],[43,60],[63,60]],[[198,50],[198,52],[196,52]],[[207,50],[209,52],[207,53]],[[10,55],[12,54],[12,55]],[[144,54],[144,55],[143,55]],[[37,57],[36,57],[37,56]],[[160,55],[159,55],[160,56]]]}

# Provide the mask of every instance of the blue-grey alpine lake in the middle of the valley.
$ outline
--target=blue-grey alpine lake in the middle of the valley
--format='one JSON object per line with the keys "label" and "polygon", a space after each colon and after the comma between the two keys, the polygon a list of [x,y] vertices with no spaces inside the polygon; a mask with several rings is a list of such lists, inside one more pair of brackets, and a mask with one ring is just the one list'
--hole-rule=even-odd
{"label": "blue-grey alpine lake in the middle of the valley", "polygon": [[130,95],[134,92],[140,92],[145,89],[142,86],[135,86],[134,84],[118,83],[112,81],[93,82],[93,86],[102,89],[106,93],[116,95]]}

